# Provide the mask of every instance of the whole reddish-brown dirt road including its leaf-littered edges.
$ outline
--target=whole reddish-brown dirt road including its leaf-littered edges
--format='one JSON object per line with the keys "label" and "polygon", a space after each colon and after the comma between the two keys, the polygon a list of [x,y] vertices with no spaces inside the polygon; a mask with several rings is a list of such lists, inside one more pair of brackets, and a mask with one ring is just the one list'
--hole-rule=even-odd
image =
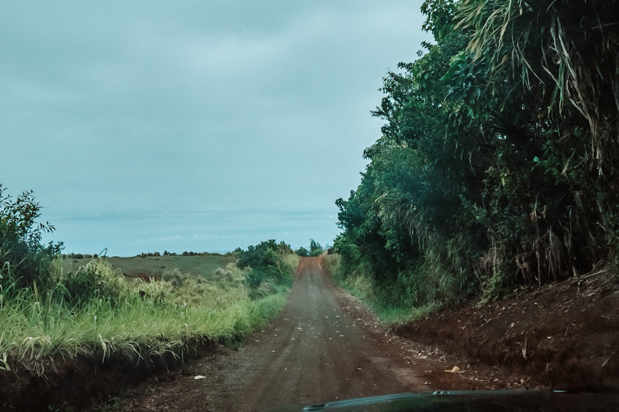
{"label": "whole reddish-brown dirt road including its leaf-littered edges", "polygon": [[[304,258],[289,300],[237,352],[224,347],[151,378],[98,410],[268,411],[363,396],[490,389],[523,380],[464,362],[380,328],[371,312]],[[201,378],[195,379],[196,376]]]}

